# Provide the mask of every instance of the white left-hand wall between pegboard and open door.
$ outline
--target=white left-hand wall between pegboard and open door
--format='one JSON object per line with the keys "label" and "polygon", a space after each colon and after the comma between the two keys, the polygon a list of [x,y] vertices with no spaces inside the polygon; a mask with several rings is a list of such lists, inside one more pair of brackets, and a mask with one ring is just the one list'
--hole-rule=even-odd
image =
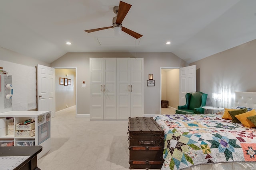
{"label": "white left-hand wall between pegboard and open door", "polygon": [[36,68],[38,64],[50,66],[49,63],[0,47],[0,67],[12,75],[13,110],[37,109]]}

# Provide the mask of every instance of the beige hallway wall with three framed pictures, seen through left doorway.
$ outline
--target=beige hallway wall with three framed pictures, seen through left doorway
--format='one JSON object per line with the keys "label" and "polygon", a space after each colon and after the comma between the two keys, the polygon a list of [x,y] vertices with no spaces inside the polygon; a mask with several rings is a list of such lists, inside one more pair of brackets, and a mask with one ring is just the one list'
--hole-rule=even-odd
{"label": "beige hallway wall with three framed pictures, seen through left doorway", "polygon": [[[66,76],[67,75],[67,76]],[[55,103],[56,111],[76,105],[76,69],[55,68]],[[71,80],[71,85],[60,84],[61,78]]]}

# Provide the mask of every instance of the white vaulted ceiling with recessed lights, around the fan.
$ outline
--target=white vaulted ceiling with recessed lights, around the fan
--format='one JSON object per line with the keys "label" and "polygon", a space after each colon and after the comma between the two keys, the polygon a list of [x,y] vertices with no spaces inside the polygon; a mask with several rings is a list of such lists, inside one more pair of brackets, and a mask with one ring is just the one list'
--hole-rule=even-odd
{"label": "white vaulted ceiling with recessed lights, around the fan", "polygon": [[119,2],[2,0],[0,47],[47,63],[68,52],[172,52],[192,63],[256,39],[256,0],[123,0],[132,7],[122,25],[141,38],[84,31],[112,26]]}

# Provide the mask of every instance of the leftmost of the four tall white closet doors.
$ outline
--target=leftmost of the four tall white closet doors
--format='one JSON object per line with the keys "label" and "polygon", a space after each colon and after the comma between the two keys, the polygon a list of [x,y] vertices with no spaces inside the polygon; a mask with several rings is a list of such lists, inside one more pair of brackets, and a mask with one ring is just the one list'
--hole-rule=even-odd
{"label": "leftmost of the four tall white closet doors", "polygon": [[103,119],[103,58],[90,58],[90,119]]}

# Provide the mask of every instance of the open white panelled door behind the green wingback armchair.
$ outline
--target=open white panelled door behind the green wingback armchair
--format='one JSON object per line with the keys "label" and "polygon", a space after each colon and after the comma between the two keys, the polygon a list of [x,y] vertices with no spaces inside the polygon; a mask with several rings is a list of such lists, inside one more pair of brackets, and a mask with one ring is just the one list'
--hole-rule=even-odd
{"label": "open white panelled door behind the green wingback armchair", "polygon": [[196,92],[196,65],[180,68],[180,106],[186,104],[186,93]]}

